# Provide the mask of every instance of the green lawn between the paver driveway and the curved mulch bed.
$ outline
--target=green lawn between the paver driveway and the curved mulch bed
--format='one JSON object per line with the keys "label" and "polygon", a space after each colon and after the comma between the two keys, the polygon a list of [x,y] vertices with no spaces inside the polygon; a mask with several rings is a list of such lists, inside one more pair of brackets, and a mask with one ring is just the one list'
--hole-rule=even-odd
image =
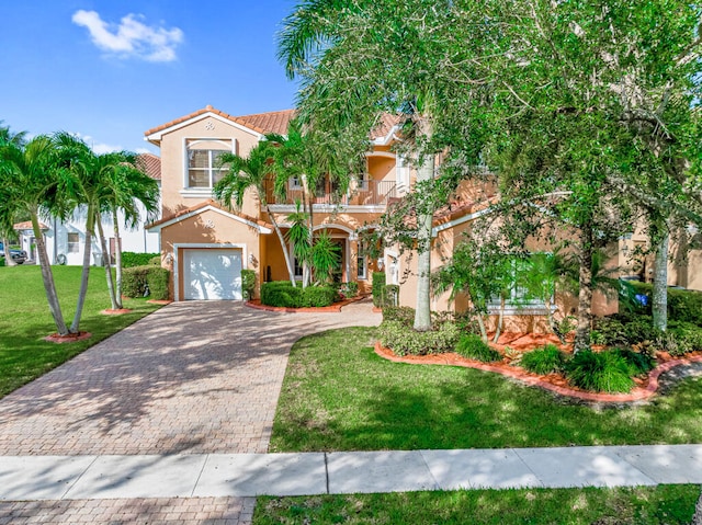
{"label": "green lawn between the paver driveway and the curved mulch bed", "polygon": [[294,345],[271,452],[702,443],[702,378],[596,409],[497,374],[390,363],[374,340],[352,328]]}

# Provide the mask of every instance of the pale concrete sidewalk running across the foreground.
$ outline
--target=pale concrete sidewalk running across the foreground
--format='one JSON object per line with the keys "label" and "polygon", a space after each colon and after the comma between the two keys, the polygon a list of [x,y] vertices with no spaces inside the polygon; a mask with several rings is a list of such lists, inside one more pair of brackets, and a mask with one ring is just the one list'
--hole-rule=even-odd
{"label": "pale concrete sidewalk running across the foreground", "polygon": [[702,445],[4,456],[0,500],[344,494],[702,483]]}

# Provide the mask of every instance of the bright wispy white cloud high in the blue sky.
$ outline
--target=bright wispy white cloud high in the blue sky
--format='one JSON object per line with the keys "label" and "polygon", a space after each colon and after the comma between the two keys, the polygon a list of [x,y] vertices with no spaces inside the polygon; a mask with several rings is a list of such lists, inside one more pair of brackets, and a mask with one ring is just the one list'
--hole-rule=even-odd
{"label": "bright wispy white cloud high in the blue sky", "polygon": [[79,10],[72,22],[87,27],[92,42],[120,57],[138,57],[155,62],[176,60],[176,47],[183,41],[178,27],[166,28],[143,23],[144,16],[127,14],[120,24],[109,24],[97,11]]}

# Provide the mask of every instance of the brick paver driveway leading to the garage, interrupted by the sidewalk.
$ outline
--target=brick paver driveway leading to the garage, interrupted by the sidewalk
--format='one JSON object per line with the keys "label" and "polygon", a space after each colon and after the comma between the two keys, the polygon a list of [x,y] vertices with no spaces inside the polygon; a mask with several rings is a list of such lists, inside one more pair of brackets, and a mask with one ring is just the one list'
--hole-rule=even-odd
{"label": "brick paver driveway leading to the garage, interrupted by the sidewalk", "polygon": [[[169,305],[0,399],[2,456],[264,453],[287,354],[301,336],[380,323],[239,303]],[[253,498],[0,502],[0,524],[233,524]]]}

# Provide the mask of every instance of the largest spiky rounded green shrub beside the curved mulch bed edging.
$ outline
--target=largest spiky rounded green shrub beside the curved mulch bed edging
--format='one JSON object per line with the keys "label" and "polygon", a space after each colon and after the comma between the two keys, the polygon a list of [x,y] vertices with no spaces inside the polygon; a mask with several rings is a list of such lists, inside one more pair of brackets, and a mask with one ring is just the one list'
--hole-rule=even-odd
{"label": "largest spiky rounded green shrub beside the curved mulch bed edging", "polygon": [[596,392],[629,392],[634,387],[629,365],[613,352],[578,352],[566,365],[568,381]]}

